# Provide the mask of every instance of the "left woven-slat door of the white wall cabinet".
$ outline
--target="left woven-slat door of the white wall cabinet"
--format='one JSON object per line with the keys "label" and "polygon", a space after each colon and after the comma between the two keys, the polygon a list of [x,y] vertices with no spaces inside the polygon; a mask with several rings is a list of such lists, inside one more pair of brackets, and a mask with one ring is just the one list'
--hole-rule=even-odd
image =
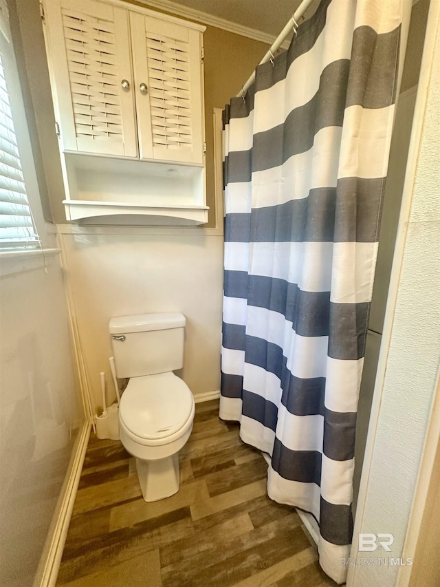
{"label": "left woven-slat door of the white wall cabinet", "polygon": [[63,149],[136,157],[128,10],[48,0],[45,19]]}

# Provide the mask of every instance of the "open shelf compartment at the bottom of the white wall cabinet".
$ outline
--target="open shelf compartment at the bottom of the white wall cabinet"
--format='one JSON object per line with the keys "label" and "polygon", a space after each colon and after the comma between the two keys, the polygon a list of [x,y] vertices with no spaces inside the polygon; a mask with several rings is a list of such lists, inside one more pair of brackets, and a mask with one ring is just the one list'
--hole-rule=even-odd
{"label": "open shelf compartment at the bottom of the white wall cabinet", "polygon": [[64,154],[67,220],[134,225],[208,222],[203,167]]}

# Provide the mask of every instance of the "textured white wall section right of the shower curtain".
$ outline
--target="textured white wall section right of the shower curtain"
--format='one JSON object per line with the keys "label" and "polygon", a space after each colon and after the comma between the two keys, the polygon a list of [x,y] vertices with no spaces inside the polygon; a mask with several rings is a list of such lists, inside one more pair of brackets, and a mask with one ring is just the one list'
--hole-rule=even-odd
{"label": "textured white wall section right of the shower curtain", "polygon": [[[410,147],[408,159],[410,167],[410,161],[417,157],[415,182],[413,189],[412,185],[405,188],[410,213],[406,212],[408,222],[401,222],[397,237],[397,251],[403,259],[401,267],[393,268],[392,288],[395,281],[398,290],[392,322],[386,317],[384,339],[388,337],[389,347],[381,350],[380,377],[387,354],[388,360],[382,388],[376,385],[375,389],[353,542],[355,546],[358,533],[392,533],[392,557],[401,557],[404,546],[440,360],[440,75],[439,68],[433,65],[431,69],[430,63],[431,55],[434,64],[440,58],[438,13],[439,5],[434,3],[426,35],[428,58],[422,64],[413,125],[417,133],[423,120],[421,140]],[[409,170],[407,181],[410,175]],[[388,555],[384,551],[356,551],[353,548],[353,556]],[[355,566],[348,584],[394,586],[398,569]]]}

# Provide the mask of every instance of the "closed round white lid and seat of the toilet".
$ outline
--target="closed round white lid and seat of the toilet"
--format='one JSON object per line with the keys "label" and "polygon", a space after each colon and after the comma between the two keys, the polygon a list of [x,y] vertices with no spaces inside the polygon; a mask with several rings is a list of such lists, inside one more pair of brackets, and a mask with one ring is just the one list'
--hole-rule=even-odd
{"label": "closed round white lid and seat of the toilet", "polygon": [[120,400],[120,425],[141,445],[173,442],[192,425],[190,389],[173,372],[132,377]]}

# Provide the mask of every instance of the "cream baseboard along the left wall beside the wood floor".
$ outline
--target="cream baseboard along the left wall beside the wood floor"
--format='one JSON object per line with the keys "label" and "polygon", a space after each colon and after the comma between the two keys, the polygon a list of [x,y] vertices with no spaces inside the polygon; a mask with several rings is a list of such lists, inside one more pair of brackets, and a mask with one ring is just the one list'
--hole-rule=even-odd
{"label": "cream baseboard along the left wall beside the wood floor", "polygon": [[78,438],[76,438],[72,450],[69,468],[56,503],[39,568],[34,579],[34,587],[53,587],[56,584],[89,436],[90,422],[87,420],[78,432]]}

